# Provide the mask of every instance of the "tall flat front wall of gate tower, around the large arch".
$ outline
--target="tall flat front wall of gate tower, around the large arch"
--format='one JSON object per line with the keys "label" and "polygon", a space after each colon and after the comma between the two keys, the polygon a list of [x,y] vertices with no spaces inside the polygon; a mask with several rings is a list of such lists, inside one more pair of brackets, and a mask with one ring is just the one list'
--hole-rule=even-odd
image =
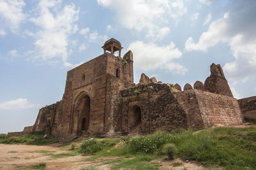
{"label": "tall flat front wall of gate tower, around the large arch", "polygon": [[63,115],[61,124],[64,132],[76,136],[75,113],[77,97],[86,94],[90,97],[90,131],[103,133],[106,98],[106,54],[100,55],[71,71],[68,71],[67,84],[63,96]]}

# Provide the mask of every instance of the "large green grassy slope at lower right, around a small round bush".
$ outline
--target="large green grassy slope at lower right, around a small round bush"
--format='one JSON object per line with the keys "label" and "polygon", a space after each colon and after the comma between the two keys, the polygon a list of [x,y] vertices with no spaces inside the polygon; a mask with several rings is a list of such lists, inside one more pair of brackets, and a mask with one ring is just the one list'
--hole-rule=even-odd
{"label": "large green grassy slope at lower right, around a small round bush", "polygon": [[[256,127],[218,127],[197,133],[191,129],[173,133],[155,132],[147,136],[120,139],[125,141],[120,148],[114,147],[116,139],[108,140],[104,142],[108,145],[104,145],[102,150],[93,153],[86,161],[100,157],[120,157],[102,163],[111,164],[111,169],[157,169],[159,165],[153,164],[151,160],[163,159],[163,145],[173,143],[177,147],[174,156],[182,160],[195,160],[205,167],[256,169]],[[173,164],[178,166],[178,163]]]}

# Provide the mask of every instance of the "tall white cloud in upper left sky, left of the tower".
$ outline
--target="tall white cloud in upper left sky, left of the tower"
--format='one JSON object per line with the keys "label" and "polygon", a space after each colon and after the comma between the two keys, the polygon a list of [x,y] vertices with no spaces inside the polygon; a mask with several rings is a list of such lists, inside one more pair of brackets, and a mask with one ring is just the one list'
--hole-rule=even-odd
{"label": "tall white cloud in upper left sky, left of the tower", "polygon": [[37,6],[37,16],[30,18],[40,29],[35,35],[36,59],[49,60],[57,57],[64,62],[67,60],[68,36],[78,30],[74,22],[78,20],[79,10],[76,10],[74,4],[63,8],[60,4],[61,1],[42,0]]}

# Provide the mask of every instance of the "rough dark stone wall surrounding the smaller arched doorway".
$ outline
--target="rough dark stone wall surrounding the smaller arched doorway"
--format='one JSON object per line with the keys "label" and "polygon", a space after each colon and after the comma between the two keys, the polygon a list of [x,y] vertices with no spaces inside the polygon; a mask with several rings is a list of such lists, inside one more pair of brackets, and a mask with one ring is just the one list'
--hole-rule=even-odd
{"label": "rough dark stone wall surrounding the smaller arched doorway", "polygon": [[166,84],[149,83],[115,92],[110,96],[112,102],[107,104],[109,110],[112,109],[108,118],[111,120],[109,133],[129,133],[129,114],[133,106],[140,107],[143,134],[157,130],[173,131],[187,128],[186,113],[170,89],[171,87]]}

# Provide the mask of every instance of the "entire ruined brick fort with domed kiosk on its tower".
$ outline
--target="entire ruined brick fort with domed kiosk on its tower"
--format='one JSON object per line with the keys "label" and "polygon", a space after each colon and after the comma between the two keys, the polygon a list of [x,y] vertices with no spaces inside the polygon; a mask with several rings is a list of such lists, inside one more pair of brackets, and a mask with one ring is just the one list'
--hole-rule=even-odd
{"label": "entire ruined brick fort with domed kiosk on its tower", "polygon": [[122,57],[122,45],[113,38],[102,48],[102,55],[67,72],[61,101],[41,108],[33,126],[8,136],[44,131],[70,140],[88,133],[148,134],[256,120],[256,97],[237,101],[220,64],[211,65],[204,83],[187,83],[183,90],[143,73],[135,84],[131,50]]}

